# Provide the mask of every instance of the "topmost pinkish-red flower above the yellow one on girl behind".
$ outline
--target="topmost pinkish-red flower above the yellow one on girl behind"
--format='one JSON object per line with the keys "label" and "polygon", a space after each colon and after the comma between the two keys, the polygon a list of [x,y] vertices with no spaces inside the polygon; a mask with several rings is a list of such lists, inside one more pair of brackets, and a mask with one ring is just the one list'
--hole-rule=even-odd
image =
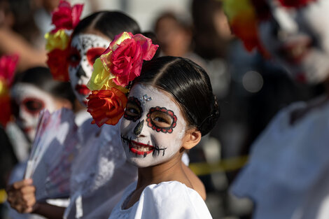
{"label": "topmost pinkish-red flower above the yellow one on girl behind", "polygon": [[83,4],[76,4],[71,7],[67,1],[60,1],[58,8],[52,13],[52,24],[56,32],[58,29],[74,29],[80,21],[80,15],[83,11]]}

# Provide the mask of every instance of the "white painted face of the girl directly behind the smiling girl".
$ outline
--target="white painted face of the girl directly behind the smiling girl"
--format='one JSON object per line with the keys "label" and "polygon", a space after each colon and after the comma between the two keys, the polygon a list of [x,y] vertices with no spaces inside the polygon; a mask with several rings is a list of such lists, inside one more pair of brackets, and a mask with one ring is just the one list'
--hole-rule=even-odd
{"label": "white painted face of the girl directly behind the smiling girl", "polygon": [[[111,41],[95,34],[78,34],[72,39],[71,47],[79,52],[80,62],[76,66],[69,65],[69,78],[76,98],[84,106],[86,106],[86,97],[90,94],[86,91],[86,86],[93,71],[92,65],[88,62],[87,52],[92,48],[104,48],[106,50],[110,43]],[[99,53],[99,55],[102,54]]]}

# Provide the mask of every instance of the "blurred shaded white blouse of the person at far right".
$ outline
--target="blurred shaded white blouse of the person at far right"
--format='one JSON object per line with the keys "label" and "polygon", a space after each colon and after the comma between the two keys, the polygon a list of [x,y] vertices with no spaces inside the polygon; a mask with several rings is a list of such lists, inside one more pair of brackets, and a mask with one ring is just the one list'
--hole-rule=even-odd
{"label": "blurred shaded white blouse of the person at far right", "polygon": [[323,211],[329,195],[329,102],[290,125],[290,113],[305,107],[295,103],[276,115],[232,185],[235,195],[253,199],[255,219],[329,218]]}

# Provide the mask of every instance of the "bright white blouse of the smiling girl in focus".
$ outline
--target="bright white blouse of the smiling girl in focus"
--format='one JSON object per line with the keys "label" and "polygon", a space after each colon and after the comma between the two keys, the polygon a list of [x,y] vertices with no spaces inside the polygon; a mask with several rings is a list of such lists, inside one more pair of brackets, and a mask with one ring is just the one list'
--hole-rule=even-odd
{"label": "bright white blouse of the smiling girl in focus", "polygon": [[124,203],[127,202],[136,185],[137,182],[134,182],[125,190],[109,219],[211,218],[202,197],[195,190],[178,181],[148,185],[134,206],[123,209]]}

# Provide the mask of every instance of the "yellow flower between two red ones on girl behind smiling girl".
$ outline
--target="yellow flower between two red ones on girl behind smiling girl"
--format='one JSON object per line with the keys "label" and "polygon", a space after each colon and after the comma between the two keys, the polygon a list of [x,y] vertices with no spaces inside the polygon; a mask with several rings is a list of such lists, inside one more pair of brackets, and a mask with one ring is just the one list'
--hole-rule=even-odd
{"label": "yellow flower between two red ones on girl behind smiling girl", "polygon": [[70,40],[64,29],[59,29],[55,34],[48,32],[45,34],[45,39],[47,40],[45,49],[49,52],[54,49],[65,50],[69,45]]}

